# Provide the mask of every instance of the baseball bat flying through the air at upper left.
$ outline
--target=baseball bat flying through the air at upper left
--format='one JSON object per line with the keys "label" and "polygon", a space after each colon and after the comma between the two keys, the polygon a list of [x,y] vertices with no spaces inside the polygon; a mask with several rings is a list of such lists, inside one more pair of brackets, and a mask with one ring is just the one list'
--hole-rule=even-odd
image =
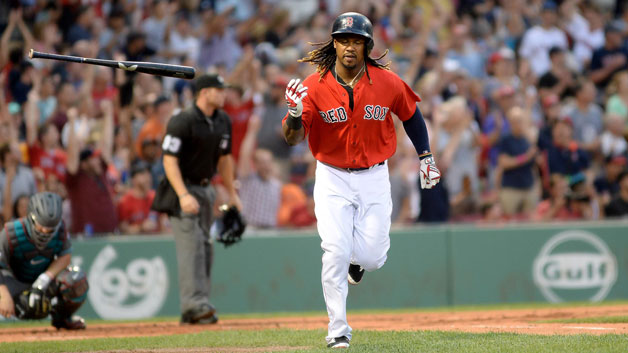
{"label": "baseball bat flying through the air at upper left", "polygon": [[196,74],[196,70],[190,66],[160,64],[160,63],[151,63],[151,62],[143,62],[143,61],[116,61],[116,60],[105,60],[105,59],[91,59],[91,58],[82,58],[80,56],[42,53],[42,52],[35,51],[33,49],[31,49],[30,53],[28,53],[28,57],[31,59],[50,59],[50,60],[69,61],[69,62],[80,63],[80,64],[100,65],[100,66],[113,67],[115,69],[122,69],[125,71],[141,72],[141,73],[149,74],[149,75],[168,76],[168,77],[177,77],[177,78],[185,78],[185,79],[193,79],[194,75]]}

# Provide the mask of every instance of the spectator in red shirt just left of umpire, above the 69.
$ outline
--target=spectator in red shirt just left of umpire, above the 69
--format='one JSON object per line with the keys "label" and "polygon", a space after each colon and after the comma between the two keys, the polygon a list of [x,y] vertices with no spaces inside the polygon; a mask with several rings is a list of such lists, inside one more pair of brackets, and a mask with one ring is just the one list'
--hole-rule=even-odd
{"label": "spectator in red shirt just left of umpire, above the 69", "polygon": [[160,229],[159,214],[150,209],[155,198],[150,169],[144,162],[131,168],[131,188],[118,202],[118,221],[122,233],[155,233]]}

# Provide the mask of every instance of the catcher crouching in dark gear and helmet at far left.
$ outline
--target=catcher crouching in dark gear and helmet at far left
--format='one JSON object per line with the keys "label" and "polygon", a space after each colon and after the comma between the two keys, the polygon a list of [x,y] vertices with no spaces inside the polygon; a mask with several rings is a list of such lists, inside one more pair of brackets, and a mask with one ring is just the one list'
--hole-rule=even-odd
{"label": "catcher crouching in dark gear and helmet at far left", "polygon": [[61,220],[61,197],[33,195],[26,218],[7,222],[0,232],[0,315],[20,320],[52,317],[57,329],[81,330],[72,315],[87,297],[87,278],[70,267],[72,244]]}

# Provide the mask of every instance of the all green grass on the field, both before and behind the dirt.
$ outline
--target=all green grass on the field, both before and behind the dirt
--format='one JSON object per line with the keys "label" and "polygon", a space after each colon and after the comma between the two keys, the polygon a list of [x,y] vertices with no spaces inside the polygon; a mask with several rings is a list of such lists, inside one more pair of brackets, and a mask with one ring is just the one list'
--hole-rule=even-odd
{"label": "all green grass on the field, both before and behind the dirt", "polygon": [[[576,305],[578,304],[578,305]],[[551,304],[517,304],[498,306],[473,306],[430,308],[417,310],[374,310],[353,311],[352,313],[395,313],[395,312],[435,312],[435,311],[466,311],[496,309],[536,309],[561,308],[568,306],[597,306],[609,304],[626,304],[626,302],[609,302],[603,304],[567,303]],[[281,314],[247,314],[224,315],[224,319],[268,318],[274,316],[313,316],[320,312],[281,313]],[[138,322],[174,321],[176,318],[156,318]],[[128,321],[124,321],[128,322]],[[593,317],[582,319],[552,320],[556,323],[626,323],[627,316]],[[116,322],[90,320],[91,324],[116,325]],[[8,327],[47,326],[47,321],[0,323],[0,330]],[[328,352],[325,347],[324,330],[228,330],[204,331],[195,334],[168,335],[159,337],[133,338],[99,338],[67,341],[44,342],[11,342],[0,343],[2,353],[24,352],[94,352],[112,350],[151,350],[180,349],[182,352],[212,351],[212,347],[220,352]],[[354,330],[351,341],[351,352],[512,352],[512,353],[625,353],[628,352],[628,335],[527,335],[514,333],[460,333],[441,331],[369,331]]]}

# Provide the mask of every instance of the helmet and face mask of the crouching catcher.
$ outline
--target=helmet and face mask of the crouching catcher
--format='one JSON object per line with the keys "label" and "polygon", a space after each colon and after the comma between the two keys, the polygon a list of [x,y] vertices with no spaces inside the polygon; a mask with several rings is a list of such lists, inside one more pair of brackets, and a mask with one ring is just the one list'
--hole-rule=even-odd
{"label": "helmet and face mask of the crouching catcher", "polygon": [[[38,249],[44,249],[59,230],[62,211],[61,197],[57,194],[40,192],[31,196],[28,201],[26,227],[31,240]],[[41,232],[37,230],[35,223],[47,228],[49,231]]]}

